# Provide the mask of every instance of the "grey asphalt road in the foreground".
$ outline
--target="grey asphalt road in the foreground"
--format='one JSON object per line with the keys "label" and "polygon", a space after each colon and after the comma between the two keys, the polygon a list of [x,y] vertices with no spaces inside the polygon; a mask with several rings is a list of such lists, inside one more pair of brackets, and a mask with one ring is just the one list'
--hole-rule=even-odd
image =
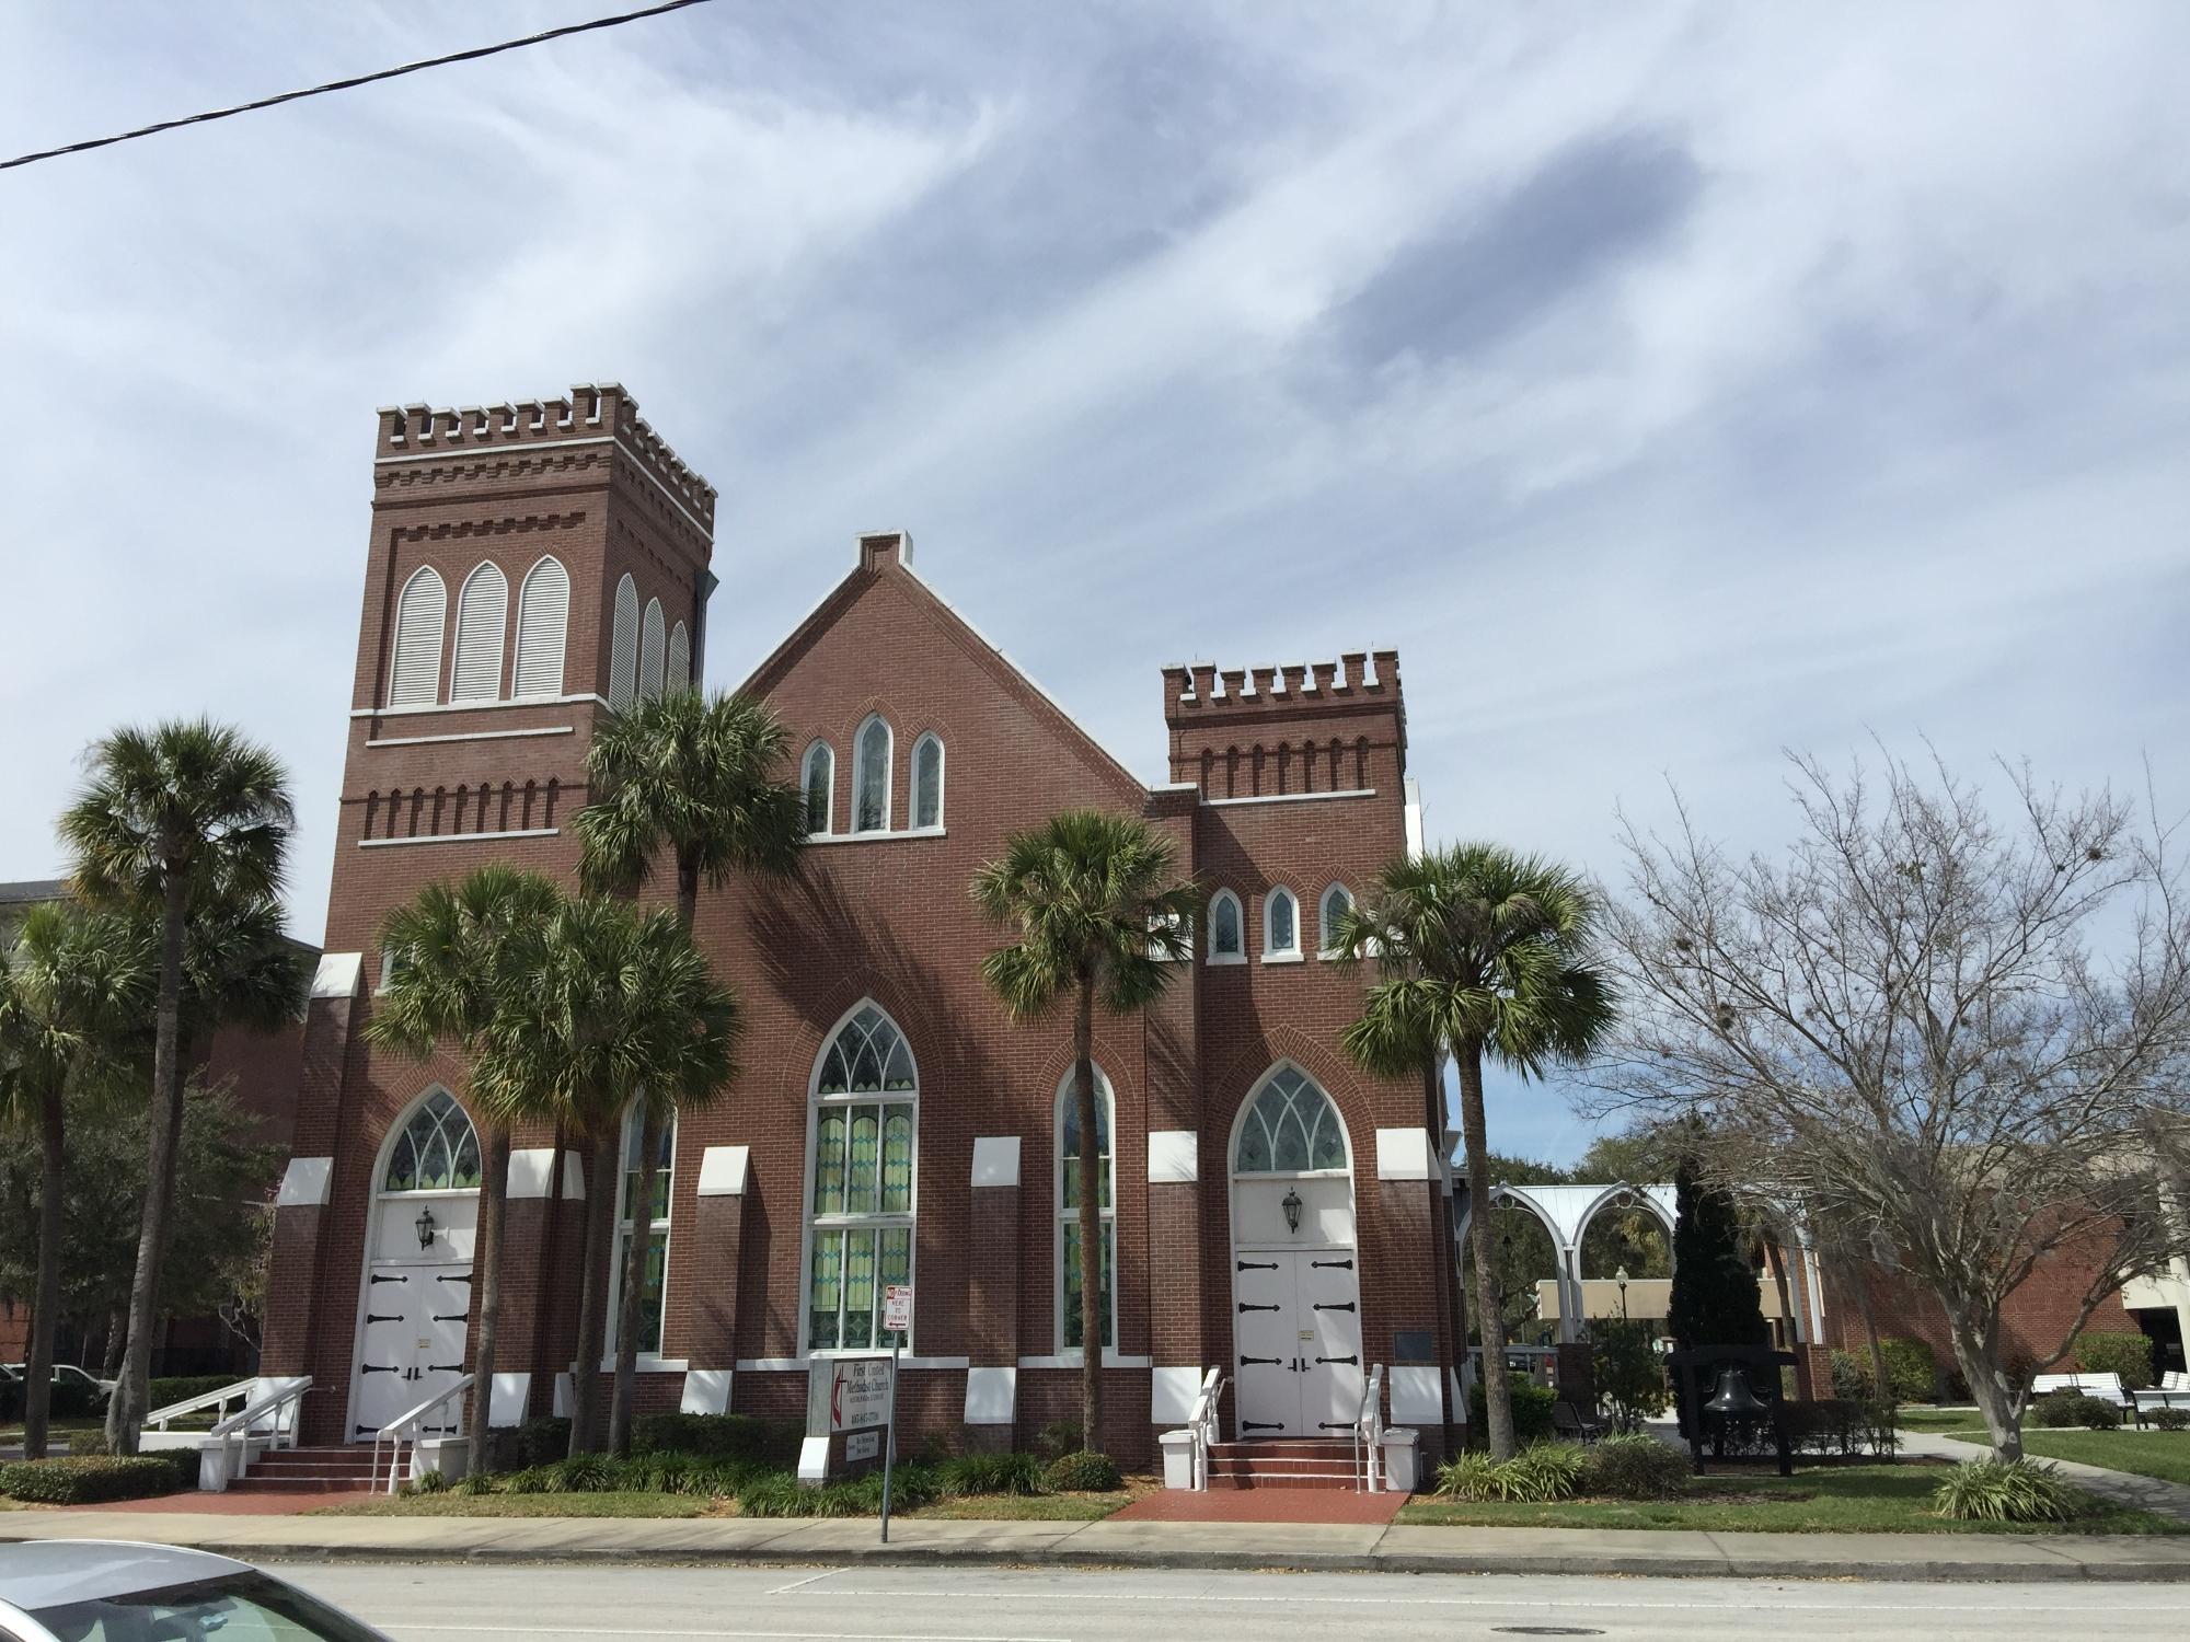
{"label": "grey asphalt road in the foreground", "polygon": [[2190,1638],[2186,1585],[1855,1585],[1688,1579],[1198,1574],[955,1568],[280,1565],[399,1642],[2021,1642]]}

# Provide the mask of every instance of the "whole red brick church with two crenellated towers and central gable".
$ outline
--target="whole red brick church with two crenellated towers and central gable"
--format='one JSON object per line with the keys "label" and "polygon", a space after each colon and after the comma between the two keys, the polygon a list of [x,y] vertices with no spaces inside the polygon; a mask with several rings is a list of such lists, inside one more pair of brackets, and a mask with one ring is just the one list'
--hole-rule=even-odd
{"label": "whole red brick church with two crenellated towers and central gable", "polygon": [[[265,1375],[311,1375],[307,1443],[370,1443],[469,1371],[480,1145],[458,1062],[366,1042],[381,920],[488,860],[576,882],[593,729],[699,677],[716,589],[714,490],[613,385],[385,409],[372,482],[263,1355]],[[552,1132],[519,1130],[495,1423],[561,1412],[569,1375],[604,1368],[572,1362],[598,1191],[618,1193],[615,1241],[655,1250],[642,1410],[799,1416],[808,1366],[880,1344],[883,1290],[911,1281],[911,1438],[1031,1447],[1077,1419],[1069,1014],[1005,1018],[968,882],[1010,832],[1093,806],[1145,817],[1211,893],[1163,1001],[1095,1027],[1113,1452],[1152,1458],[1211,1368],[1235,1381],[1226,1436],[1342,1436],[1373,1364],[1388,1416],[1441,1447],[1459,1419],[1443,1095],[1349,1064],[1367,974],[1323,955],[1334,909],[1419,845],[1397,657],[1165,668],[1169,771],[1150,786],[913,569],[904,534],[858,536],[845,569],[742,685],[791,727],[812,830],[791,882],[703,891],[742,1073],[668,1136],[650,1215],[576,1154],[558,1191]],[[613,1281],[598,1292],[613,1335]]]}

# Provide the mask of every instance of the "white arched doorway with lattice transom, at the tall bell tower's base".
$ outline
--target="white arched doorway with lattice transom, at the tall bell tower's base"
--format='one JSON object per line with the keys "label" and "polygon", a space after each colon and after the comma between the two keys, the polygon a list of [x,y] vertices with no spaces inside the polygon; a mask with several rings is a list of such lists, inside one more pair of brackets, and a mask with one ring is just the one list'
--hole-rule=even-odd
{"label": "white arched doorway with lattice transom, at the tall bell tower's base", "polygon": [[[471,1250],[480,1224],[480,1136],[445,1088],[388,1130],[372,1165],[372,1215],[357,1296],[350,1441],[370,1443],[464,1373]],[[456,1412],[427,1436],[456,1432]]]}

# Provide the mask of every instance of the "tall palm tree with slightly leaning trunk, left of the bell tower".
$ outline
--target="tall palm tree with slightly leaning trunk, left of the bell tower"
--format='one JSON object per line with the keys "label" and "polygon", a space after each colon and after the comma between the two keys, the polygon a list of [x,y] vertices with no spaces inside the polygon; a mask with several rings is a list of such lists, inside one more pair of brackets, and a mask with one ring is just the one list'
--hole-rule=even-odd
{"label": "tall palm tree with slightly leaning trunk, left of the bell tower", "polygon": [[160,1311],[166,1215],[175,1202],[191,909],[278,895],[296,808],[280,760],[206,718],[116,729],[92,744],[85,764],[90,779],[61,814],[77,891],[94,904],[160,911],[145,1222],[129,1283],[129,1346],[107,1399],[110,1445],[134,1454]]}

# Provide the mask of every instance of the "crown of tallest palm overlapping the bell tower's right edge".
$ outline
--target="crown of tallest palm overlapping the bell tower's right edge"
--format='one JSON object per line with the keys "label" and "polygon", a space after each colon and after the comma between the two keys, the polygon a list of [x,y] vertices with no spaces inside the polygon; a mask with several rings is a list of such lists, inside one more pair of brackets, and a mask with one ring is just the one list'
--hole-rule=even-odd
{"label": "crown of tallest palm overlapping the bell tower's right edge", "polygon": [[664,849],[677,922],[692,928],[701,880],[782,878],[806,845],[806,797],[784,779],[791,733],[751,696],[672,690],[602,718],[585,755],[587,806],[572,821],[593,893],[629,895]]}

